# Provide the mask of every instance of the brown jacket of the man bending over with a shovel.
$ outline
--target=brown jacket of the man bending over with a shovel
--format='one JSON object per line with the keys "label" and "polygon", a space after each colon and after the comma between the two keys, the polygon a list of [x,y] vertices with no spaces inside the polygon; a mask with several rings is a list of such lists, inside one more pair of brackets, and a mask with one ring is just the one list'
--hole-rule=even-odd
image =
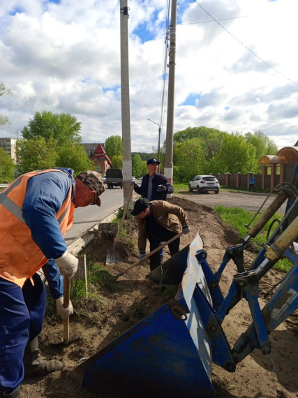
{"label": "brown jacket of the man bending over with a shovel", "polygon": [[[181,207],[165,202],[165,200],[152,200],[149,202],[149,206],[154,219],[156,219],[156,221],[167,230],[179,233],[181,231],[181,226],[187,225],[187,217],[184,209]],[[146,217],[144,219],[136,217],[136,219],[137,228],[139,229],[137,244],[139,250],[145,250],[147,242]]]}

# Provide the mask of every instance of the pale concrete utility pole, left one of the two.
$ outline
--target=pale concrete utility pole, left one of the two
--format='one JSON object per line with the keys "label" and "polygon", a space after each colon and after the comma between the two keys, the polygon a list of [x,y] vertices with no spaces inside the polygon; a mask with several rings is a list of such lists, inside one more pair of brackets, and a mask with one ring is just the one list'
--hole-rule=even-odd
{"label": "pale concrete utility pole, left one of the two", "polygon": [[[131,190],[131,111],[129,105],[129,69],[128,69],[128,6],[127,0],[120,0],[120,52],[121,52],[121,119],[123,146],[123,194],[124,206]],[[133,207],[133,200],[128,208]],[[129,213],[128,213],[129,214]]]}

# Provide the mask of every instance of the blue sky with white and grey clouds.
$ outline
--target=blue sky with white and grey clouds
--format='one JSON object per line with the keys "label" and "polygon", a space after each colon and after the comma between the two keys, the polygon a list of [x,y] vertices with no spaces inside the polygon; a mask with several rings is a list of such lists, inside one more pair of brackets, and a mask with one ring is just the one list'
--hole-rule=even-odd
{"label": "blue sky with white and grey clouds", "polygon": [[[171,13],[167,0],[127,5],[131,150],[156,152]],[[262,131],[278,149],[295,145],[297,13],[297,0],[177,0],[173,133]],[[0,137],[21,138],[43,111],[75,116],[82,142],[122,135],[120,1],[0,0],[0,81],[12,91]]]}

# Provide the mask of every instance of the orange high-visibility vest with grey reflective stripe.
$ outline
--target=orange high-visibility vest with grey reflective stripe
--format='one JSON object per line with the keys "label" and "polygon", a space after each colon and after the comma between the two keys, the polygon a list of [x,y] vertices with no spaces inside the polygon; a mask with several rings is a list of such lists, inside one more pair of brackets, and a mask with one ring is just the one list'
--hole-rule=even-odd
{"label": "orange high-visibility vest with grey reflective stripe", "polygon": [[[35,175],[53,171],[63,172],[57,169],[28,172],[0,193],[0,277],[21,288],[26,279],[31,279],[47,262],[43,252],[33,242],[31,230],[22,216],[27,183]],[[63,236],[73,224],[75,206],[71,201],[71,193],[70,186],[68,196],[56,214]]]}

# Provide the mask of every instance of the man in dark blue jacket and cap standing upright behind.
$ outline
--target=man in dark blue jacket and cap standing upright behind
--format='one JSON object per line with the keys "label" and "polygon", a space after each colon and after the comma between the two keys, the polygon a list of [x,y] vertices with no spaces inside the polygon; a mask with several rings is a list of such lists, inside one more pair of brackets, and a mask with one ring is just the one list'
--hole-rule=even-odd
{"label": "man in dark blue jacket and cap standing upright behind", "polygon": [[[151,200],[167,200],[167,194],[173,193],[174,188],[168,181],[168,179],[157,172],[158,165],[161,162],[152,158],[147,161],[148,174],[142,178],[141,186],[131,182],[134,186],[134,191],[142,196],[142,198]],[[163,242],[160,242],[163,244]],[[163,263],[163,249],[159,251],[161,257],[161,263]]]}

